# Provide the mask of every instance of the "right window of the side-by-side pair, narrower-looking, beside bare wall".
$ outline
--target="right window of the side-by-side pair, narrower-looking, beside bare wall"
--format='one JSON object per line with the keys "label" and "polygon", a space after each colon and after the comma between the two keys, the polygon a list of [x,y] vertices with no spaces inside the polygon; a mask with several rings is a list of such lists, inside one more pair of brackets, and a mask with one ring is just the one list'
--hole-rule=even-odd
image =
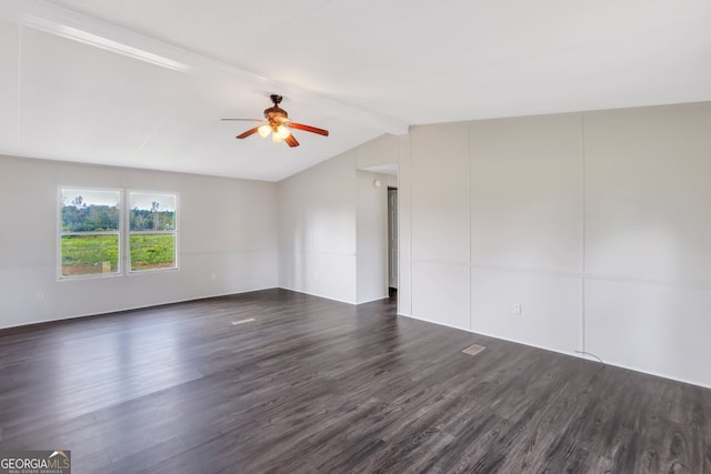
{"label": "right window of the side-by-side pair, narrower-looking, beside bare wall", "polygon": [[131,272],[176,269],[176,194],[129,193]]}

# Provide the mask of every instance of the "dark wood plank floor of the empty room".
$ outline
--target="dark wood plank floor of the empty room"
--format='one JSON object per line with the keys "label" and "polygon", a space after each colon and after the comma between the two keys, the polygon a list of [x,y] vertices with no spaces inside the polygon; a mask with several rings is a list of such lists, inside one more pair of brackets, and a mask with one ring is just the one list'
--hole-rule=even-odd
{"label": "dark wood plank floor of the empty room", "polygon": [[711,391],[269,290],[1,331],[10,448],[77,474],[711,473]]}

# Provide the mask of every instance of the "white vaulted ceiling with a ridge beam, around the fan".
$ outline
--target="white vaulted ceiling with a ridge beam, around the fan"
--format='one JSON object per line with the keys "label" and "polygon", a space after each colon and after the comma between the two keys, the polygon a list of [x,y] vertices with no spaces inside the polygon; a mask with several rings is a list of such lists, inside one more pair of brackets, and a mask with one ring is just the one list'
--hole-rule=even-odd
{"label": "white vaulted ceiling with a ridge beam, around the fan", "polygon": [[[711,100],[709,0],[0,0],[0,153],[279,181],[409,125]],[[252,135],[270,93],[289,149]]]}

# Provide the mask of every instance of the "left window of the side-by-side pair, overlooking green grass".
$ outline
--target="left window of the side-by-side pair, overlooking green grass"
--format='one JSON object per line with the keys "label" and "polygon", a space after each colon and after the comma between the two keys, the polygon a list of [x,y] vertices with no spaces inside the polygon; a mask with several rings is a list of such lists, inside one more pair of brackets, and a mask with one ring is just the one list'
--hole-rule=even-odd
{"label": "left window of the side-by-side pair, overlooking green grass", "polygon": [[60,276],[120,272],[118,190],[61,189]]}

